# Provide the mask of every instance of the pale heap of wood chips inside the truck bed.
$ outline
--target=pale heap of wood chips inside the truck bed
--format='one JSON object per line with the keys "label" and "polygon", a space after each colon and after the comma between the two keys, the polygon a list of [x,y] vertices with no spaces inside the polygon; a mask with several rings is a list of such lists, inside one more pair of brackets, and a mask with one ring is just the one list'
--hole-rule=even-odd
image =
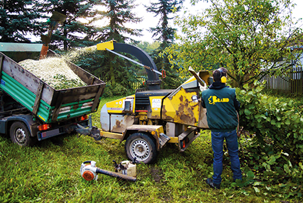
{"label": "pale heap of wood chips inside the truck bed", "polygon": [[49,57],[39,61],[27,59],[19,62],[19,65],[54,89],[68,89],[86,85],[65,63],[64,58]]}

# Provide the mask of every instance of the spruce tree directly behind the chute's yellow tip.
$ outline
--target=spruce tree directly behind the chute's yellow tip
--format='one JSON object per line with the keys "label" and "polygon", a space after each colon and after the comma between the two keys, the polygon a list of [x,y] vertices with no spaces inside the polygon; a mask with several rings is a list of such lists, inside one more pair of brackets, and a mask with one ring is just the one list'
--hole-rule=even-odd
{"label": "spruce tree directly behind the chute's yellow tip", "polygon": [[[132,13],[135,8],[134,1],[125,0],[105,0],[99,3],[105,10],[96,12],[91,23],[97,21],[108,21],[97,32],[87,34],[87,38],[100,42],[115,40],[118,43],[136,42],[132,36],[140,36],[138,29],[126,28],[126,23],[138,23],[140,18]],[[107,51],[98,51],[102,56],[102,61],[98,61],[98,67],[90,70],[95,76],[100,77],[107,82],[107,93],[112,95],[128,94],[132,91],[132,83],[136,81],[136,72],[134,64],[130,63],[120,56],[116,56]]]}

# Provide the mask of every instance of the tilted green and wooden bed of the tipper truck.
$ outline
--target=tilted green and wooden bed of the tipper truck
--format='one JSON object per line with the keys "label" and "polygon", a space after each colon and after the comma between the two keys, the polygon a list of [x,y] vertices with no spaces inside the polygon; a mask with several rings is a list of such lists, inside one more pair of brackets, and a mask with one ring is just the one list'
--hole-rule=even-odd
{"label": "tilted green and wooden bed of the tipper truck", "polygon": [[[37,60],[41,47],[39,44],[0,43],[0,88],[46,123],[96,111],[105,83],[81,67],[65,61],[86,86],[54,89],[18,64],[25,59]],[[48,50],[48,56],[58,55]]]}

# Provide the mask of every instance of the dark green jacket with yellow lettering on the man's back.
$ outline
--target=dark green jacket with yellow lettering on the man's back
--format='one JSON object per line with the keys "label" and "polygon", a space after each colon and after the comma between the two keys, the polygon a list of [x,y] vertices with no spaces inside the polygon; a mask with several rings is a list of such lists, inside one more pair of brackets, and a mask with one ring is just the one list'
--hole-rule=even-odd
{"label": "dark green jacket with yellow lettering on the man's back", "polygon": [[207,109],[207,123],[211,131],[232,131],[238,126],[240,103],[236,90],[215,82],[202,92],[202,107]]}

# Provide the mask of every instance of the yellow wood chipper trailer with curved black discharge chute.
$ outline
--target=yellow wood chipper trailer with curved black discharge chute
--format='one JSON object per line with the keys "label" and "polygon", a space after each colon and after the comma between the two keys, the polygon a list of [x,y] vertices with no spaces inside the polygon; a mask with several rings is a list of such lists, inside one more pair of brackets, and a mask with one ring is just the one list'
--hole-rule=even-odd
{"label": "yellow wood chipper trailer with curved black discharge chute", "polygon": [[[97,45],[97,50],[125,52],[138,58],[140,63],[122,56],[145,67],[148,80],[146,89],[137,89],[131,96],[106,103],[101,109],[101,138],[126,140],[125,152],[129,160],[151,163],[167,143],[175,143],[180,151],[198,136],[200,129],[208,129],[206,109],[202,108],[200,89],[212,83],[209,72],[194,76],[177,89],[160,89],[160,79],[151,57],[133,45],[109,41]],[[203,87],[203,88],[201,88]]]}

